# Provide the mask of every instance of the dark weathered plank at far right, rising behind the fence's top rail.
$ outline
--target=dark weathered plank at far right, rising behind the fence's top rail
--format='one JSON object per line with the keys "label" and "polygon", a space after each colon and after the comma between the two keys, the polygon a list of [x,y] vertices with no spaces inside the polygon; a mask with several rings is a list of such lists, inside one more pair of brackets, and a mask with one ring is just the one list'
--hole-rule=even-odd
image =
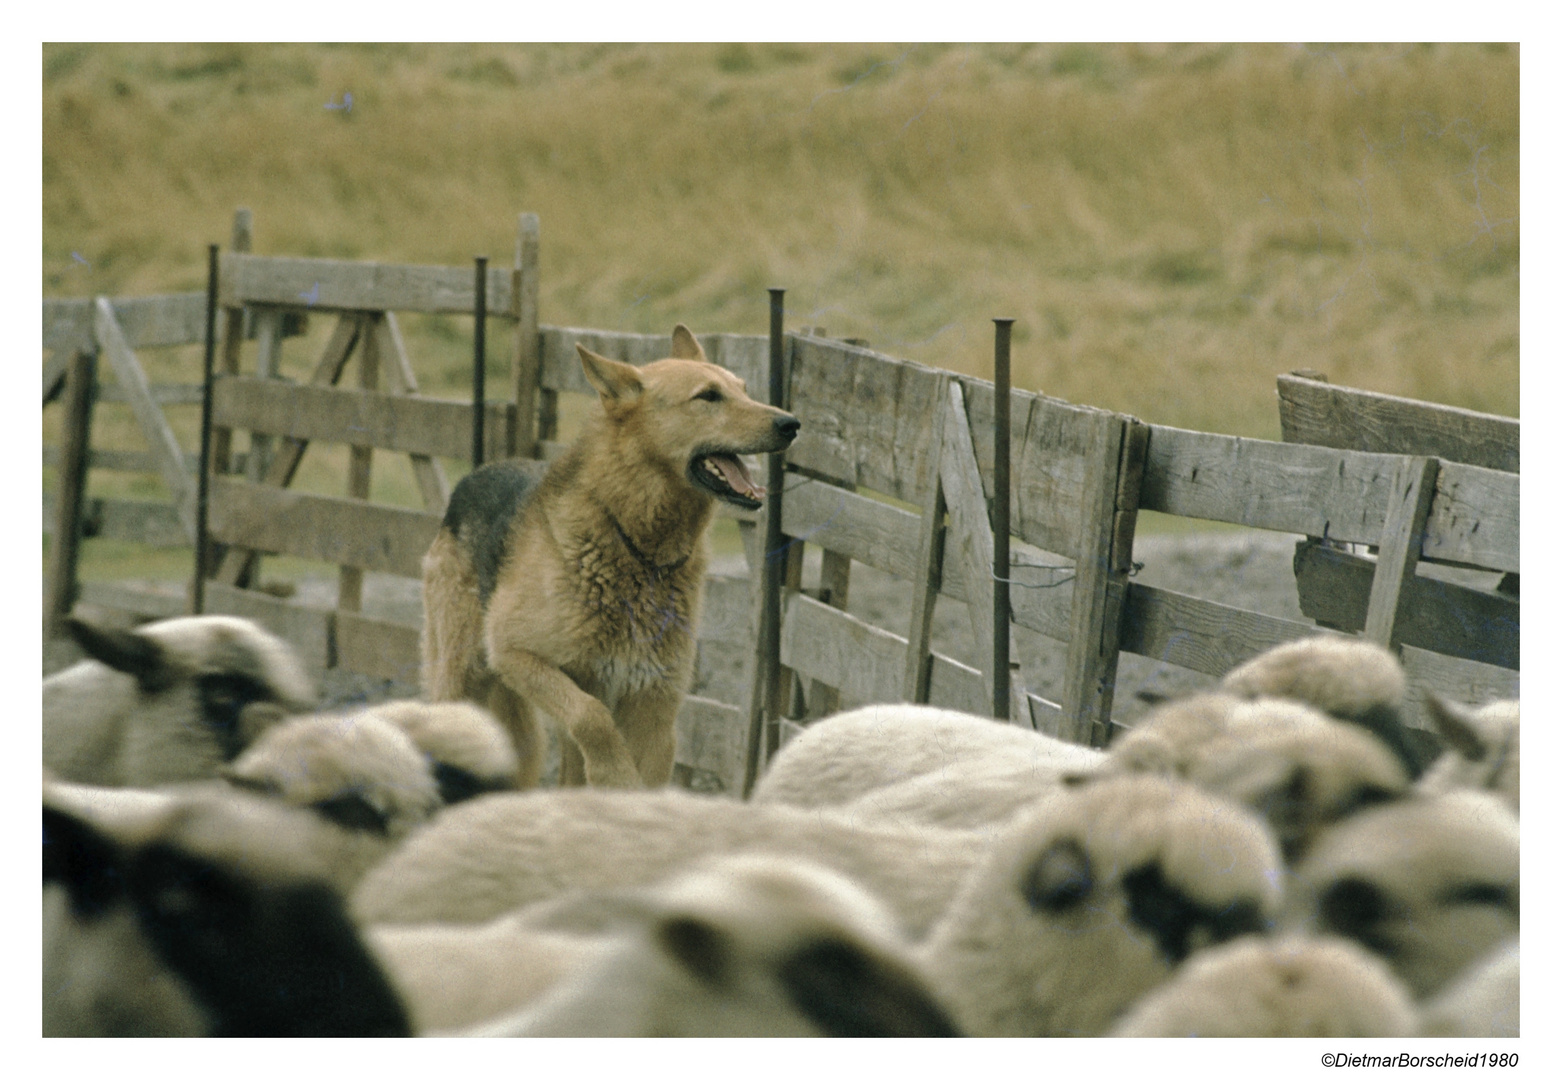
{"label": "dark weathered plank at far right, rising behind the fence's top rail", "polygon": [[1275,381],[1286,442],[1368,453],[1415,453],[1518,472],[1518,420],[1514,417],[1331,386],[1295,375],[1281,375]]}

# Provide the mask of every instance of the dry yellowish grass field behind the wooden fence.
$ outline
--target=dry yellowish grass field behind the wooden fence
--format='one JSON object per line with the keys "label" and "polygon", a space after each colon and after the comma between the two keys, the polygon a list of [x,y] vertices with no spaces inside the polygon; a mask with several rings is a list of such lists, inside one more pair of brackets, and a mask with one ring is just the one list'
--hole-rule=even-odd
{"label": "dry yellowish grass field behind the wooden fence", "polygon": [[[42,98],[50,297],[198,289],[236,206],[261,253],[461,266],[536,211],[544,322],[761,333],[786,286],[973,374],[1015,317],[1017,384],[1157,424],[1278,438],[1296,367],[1518,413],[1517,45],[45,45]],[[406,331],[464,394],[469,320]]]}

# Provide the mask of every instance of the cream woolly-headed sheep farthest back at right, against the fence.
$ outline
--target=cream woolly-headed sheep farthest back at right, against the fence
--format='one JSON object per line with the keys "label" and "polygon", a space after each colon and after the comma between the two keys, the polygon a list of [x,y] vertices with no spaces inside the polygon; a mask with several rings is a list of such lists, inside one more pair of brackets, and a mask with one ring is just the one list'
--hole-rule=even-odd
{"label": "cream woolly-headed sheep farthest back at right, against the fence", "polygon": [[1404,725],[1404,669],[1376,642],[1339,635],[1287,641],[1232,667],[1220,689],[1246,699],[1306,702],[1376,735],[1410,780],[1426,769],[1428,758]]}

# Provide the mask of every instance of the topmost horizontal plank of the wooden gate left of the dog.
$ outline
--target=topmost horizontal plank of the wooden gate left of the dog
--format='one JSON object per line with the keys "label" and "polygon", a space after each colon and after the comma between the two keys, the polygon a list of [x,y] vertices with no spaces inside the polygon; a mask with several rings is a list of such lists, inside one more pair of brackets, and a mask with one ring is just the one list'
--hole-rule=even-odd
{"label": "topmost horizontal plank of the wooden gate left of the dog", "polygon": [[[472,270],[465,267],[228,253],[219,275],[217,299],[226,306],[437,314],[472,314],[476,308]],[[508,269],[489,269],[489,311],[511,309],[509,284]]]}

